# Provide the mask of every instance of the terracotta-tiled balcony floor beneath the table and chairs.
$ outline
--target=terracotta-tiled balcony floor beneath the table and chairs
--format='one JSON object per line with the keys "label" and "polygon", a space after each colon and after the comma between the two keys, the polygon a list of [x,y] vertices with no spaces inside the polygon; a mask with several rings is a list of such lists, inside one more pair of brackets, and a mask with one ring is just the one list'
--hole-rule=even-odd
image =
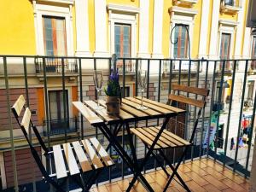
{"label": "terracotta-tiled balcony floor beneath the table and chairs", "polygon": [[[169,170],[170,171],[170,170]],[[212,191],[212,192],[245,192],[249,191],[249,181],[244,177],[234,174],[229,169],[224,168],[213,160],[194,160],[180,166],[179,173],[183,180],[188,184],[189,189],[194,192]],[[146,174],[148,183],[155,192],[162,191],[166,185],[166,174],[162,170],[149,172]],[[129,180],[120,180],[118,182],[101,185],[91,189],[92,192],[120,192],[127,189]],[[136,183],[131,191],[145,191],[141,183]],[[185,191],[176,181],[172,181],[167,191]]]}

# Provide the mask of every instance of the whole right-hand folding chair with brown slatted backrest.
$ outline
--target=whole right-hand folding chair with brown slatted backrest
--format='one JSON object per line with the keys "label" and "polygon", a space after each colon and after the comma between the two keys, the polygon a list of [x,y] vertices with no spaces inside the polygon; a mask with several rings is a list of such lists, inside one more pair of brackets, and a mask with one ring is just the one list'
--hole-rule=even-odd
{"label": "whole right-hand folding chair with brown slatted backrest", "polygon": [[[189,147],[191,147],[194,144],[193,141],[194,141],[194,137],[195,137],[196,127],[198,125],[199,118],[201,117],[201,111],[203,108],[205,108],[206,98],[209,95],[209,90],[202,89],[202,88],[196,88],[196,87],[189,87],[189,86],[180,85],[180,84],[173,84],[172,90],[174,90],[174,93],[169,95],[169,97],[168,97],[169,103],[171,103],[171,104],[172,104],[172,102],[184,103],[189,106],[195,106],[196,109],[198,108],[197,117],[195,119],[195,124],[193,126],[192,134],[191,134],[189,141],[186,141],[182,137],[175,135],[171,131],[161,130],[161,128],[159,126],[132,128],[131,132],[133,134],[135,134],[137,137],[139,137],[143,141],[143,143],[145,144],[145,146],[147,148],[150,148],[150,146],[151,146],[150,143],[153,143],[154,138],[158,137],[158,135],[160,134],[159,140],[156,142],[151,154],[153,155],[155,160],[160,162],[160,160],[158,159],[158,157],[155,153],[156,151],[159,151],[160,156],[162,156],[163,159],[166,160],[167,165],[170,166],[172,169],[172,175],[170,176],[170,174],[168,174],[166,172],[166,169],[162,166],[164,171],[169,176],[164,191],[166,191],[166,189],[168,188],[168,186],[171,183],[172,178],[174,176],[177,176],[177,179],[180,181],[180,183],[182,183],[184,189],[186,189],[187,191],[190,191],[190,189],[186,185],[186,183],[183,182],[182,177],[180,177],[179,174],[177,173],[177,169],[178,169],[178,166],[180,166],[181,162],[183,161],[183,157],[187,153]],[[198,98],[198,97],[196,97],[197,99],[189,98],[188,95],[186,95],[186,94],[185,94],[186,96],[181,96],[181,95],[179,95],[180,92],[184,92],[187,94],[188,93],[194,94],[195,96],[199,96],[200,98]],[[175,95],[175,93],[177,93],[177,94]],[[167,149],[167,148],[184,148],[183,154],[181,154],[181,156],[179,157],[176,166],[172,166],[171,160],[169,160],[166,157],[166,154],[164,153],[164,149]],[[131,183],[134,183],[136,181],[136,179],[137,178],[134,177],[132,179]]]}

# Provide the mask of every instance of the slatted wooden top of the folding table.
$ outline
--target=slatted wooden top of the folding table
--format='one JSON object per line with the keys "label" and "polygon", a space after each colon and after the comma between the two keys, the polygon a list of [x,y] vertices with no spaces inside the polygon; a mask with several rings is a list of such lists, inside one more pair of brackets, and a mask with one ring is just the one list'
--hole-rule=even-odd
{"label": "slatted wooden top of the folding table", "polygon": [[118,115],[109,115],[107,113],[106,101],[99,100],[104,108],[96,110],[95,101],[73,102],[75,108],[87,119],[90,125],[102,123],[113,124],[119,121],[134,121],[165,118],[166,116],[175,116],[177,113],[185,113],[185,110],[143,98],[143,105],[148,107],[146,110],[137,109],[141,104],[141,96],[125,97],[122,99],[120,113]]}

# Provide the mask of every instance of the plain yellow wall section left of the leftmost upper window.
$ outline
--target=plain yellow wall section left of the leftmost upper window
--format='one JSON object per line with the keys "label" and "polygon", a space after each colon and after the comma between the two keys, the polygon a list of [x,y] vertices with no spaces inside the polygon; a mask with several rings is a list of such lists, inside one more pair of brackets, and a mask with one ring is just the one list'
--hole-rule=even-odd
{"label": "plain yellow wall section left of the leftmost upper window", "polygon": [[0,54],[36,55],[31,1],[2,0],[0,15]]}

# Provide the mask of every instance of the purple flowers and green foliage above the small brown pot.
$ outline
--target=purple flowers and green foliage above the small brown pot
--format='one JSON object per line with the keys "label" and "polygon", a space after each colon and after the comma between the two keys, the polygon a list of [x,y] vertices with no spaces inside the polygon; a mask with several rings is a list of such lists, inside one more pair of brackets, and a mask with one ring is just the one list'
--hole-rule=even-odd
{"label": "purple flowers and green foliage above the small brown pot", "polygon": [[107,96],[120,96],[121,95],[121,87],[119,84],[119,72],[116,72],[111,69],[111,73],[108,80],[108,87],[105,89],[105,93]]}

